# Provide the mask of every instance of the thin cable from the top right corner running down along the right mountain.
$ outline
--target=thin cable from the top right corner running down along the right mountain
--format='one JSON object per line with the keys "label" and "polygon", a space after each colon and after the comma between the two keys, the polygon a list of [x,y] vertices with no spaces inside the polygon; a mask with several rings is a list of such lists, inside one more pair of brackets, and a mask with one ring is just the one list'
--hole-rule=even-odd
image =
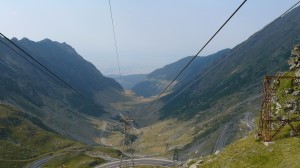
{"label": "thin cable from the top right corner running down along the right mountain", "polygon": [[[257,37],[259,34],[261,34],[265,29],[267,29],[268,27],[270,27],[273,23],[275,23],[275,21],[277,21],[278,19],[284,17],[287,13],[289,13],[292,9],[294,9],[298,4],[300,3],[300,1],[298,1],[297,3],[295,3],[292,7],[290,7],[288,10],[286,10],[283,14],[281,14],[279,17],[277,17],[275,20],[273,20],[271,23],[267,24],[264,28],[262,28],[261,30],[259,30],[258,32],[256,32],[254,35],[252,35],[251,37],[249,37],[246,41],[244,41],[242,44],[240,44],[234,51],[232,51],[230,54],[228,54],[227,56],[221,58],[215,65],[213,65],[210,69],[208,69],[205,73],[203,73],[200,77],[198,77],[197,79],[195,79],[192,83],[190,83],[189,85],[187,85],[186,87],[184,87],[182,90],[180,90],[180,92],[176,93],[171,99],[169,99],[167,102],[164,103],[164,105],[170,103],[171,101],[173,101],[177,96],[179,96],[180,94],[182,94],[183,92],[185,92],[188,88],[190,88],[191,86],[193,86],[196,82],[198,82],[199,80],[203,79],[204,77],[207,76],[207,74],[209,74],[212,70],[214,70],[218,65],[220,65],[222,62],[224,62],[225,60],[227,60],[228,58],[232,57],[234,54],[236,54],[236,52],[238,50],[240,50],[242,47],[244,47],[249,41],[251,41],[252,39],[254,39],[255,37]],[[158,111],[159,108],[155,109],[153,112]]]}

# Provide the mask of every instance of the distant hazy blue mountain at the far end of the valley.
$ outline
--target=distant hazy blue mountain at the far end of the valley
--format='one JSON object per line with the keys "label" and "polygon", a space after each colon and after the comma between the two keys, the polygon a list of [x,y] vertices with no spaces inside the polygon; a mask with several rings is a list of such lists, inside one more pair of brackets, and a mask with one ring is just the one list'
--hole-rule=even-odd
{"label": "distant hazy blue mountain at the far end of the valley", "polygon": [[146,74],[133,74],[133,75],[108,75],[108,77],[115,79],[118,81],[124,89],[130,90],[134,85],[146,80]]}

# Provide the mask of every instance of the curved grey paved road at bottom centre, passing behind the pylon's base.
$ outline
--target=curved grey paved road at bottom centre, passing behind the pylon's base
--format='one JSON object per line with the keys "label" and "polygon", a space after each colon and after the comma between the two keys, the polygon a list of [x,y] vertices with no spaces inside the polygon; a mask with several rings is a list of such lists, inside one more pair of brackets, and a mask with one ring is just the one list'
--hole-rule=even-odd
{"label": "curved grey paved road at bottom centre, passing behind the pylon's base", "polygon": [[[176,166],[180,162],[175,162],[172,160],[166,160],[166,159],[157,159],[157,158],[140,158],[140,159],[134,159],[134,165],[149,165],[149,166],[163,166],[163,167],[171,167]],[[120,161],[117,162],[110,162],[106,163],[104,165],[96,166],[95,168],[117,168],[119,167]],[[122,166],[132,166],[131,160],[124,160],[122,162]]]}

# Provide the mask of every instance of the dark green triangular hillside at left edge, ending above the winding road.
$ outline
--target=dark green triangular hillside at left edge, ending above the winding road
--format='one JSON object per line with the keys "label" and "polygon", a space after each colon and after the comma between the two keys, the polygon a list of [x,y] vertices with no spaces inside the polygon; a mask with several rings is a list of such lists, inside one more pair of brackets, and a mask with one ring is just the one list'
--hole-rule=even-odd
{"label": "dark green triangular hillside at left edge, ending above the winding road", "polygon": [[42,129],[45,125],[35,118],[31,121],[20,114],[10,106],[0,105],[0,167],[23,167],[55,151],[81,146]]}

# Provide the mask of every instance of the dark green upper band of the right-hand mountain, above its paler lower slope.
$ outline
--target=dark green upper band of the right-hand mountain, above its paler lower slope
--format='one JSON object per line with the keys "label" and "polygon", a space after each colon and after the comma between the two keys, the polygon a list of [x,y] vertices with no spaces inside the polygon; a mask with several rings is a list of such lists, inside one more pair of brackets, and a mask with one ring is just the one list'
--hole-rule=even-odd
{"label": "dark green upper band of the right-hand mountain, above its paler lower slope", "polygon": [[[300,24],[297,22],[299,18],[300,8],[298,7],[248,41],[244,47],[218,65],[205,78],[196,82],[185,94],[178,97],[175,101],[187,98],[188,103],[184,103],[190,105],[188,107],[190,112],[185,112],[184,115],[194,116],[199,109],[208,108],[209,105],[214,104],[210,100],[215,101],[233,93],[247,94],[244,90],[259,84],[258,82],[261,82],[265,75],[274,75],[276,72],[287,70],[290,51],[293,45],[300,42]],[[239,45],[232,50],[238,47]],[[199,76],[193,80],[197,78]],[[178,90],[187,84],[189,83],[181,83]],[[192,105],[195,103],[197,105]],[[168,107],[174,111],[167,110]],[[182,109],[170,105],[166,106],[164,114],[168,115],[168,111],[172,111],[169,114],[176,115],[180,113],[180,110]]]}

